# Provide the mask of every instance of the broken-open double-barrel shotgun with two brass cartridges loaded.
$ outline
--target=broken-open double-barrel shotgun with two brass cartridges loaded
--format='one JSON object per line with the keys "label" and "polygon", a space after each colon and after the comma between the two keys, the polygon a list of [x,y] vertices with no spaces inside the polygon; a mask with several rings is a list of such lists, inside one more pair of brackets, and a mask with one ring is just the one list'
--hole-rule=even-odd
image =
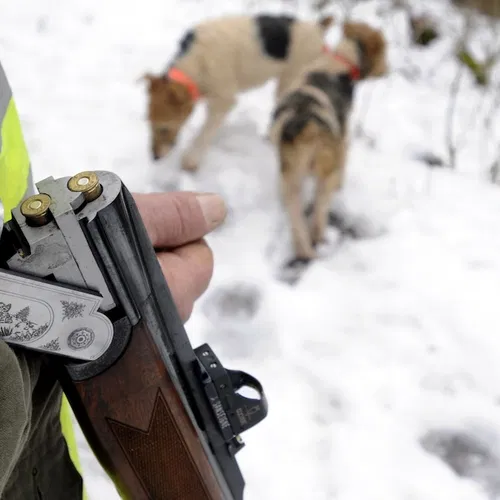
{"label": "broken-open double-barrel shotgun with two brass cartridges loaded", "polygon": [[[0,239],[0,339],[40,352],[123,498],[239,500],[254,377],[193,349],[134,200],[113,173],[49,177]],[[259,394],[239,393],[251,387]]]}

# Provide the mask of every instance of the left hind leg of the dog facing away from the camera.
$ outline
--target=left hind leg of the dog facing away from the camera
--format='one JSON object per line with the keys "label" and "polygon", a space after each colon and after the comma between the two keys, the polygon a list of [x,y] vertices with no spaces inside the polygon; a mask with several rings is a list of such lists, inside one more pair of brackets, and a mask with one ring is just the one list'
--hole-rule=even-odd
{"label": "left hind leg of the dog facing away from the camera", "polygon": [[281,196],[291,224],[295,260],[308,261],[316,257],[304,216],[302,185],[308,171],[311,150],[281,146]]}

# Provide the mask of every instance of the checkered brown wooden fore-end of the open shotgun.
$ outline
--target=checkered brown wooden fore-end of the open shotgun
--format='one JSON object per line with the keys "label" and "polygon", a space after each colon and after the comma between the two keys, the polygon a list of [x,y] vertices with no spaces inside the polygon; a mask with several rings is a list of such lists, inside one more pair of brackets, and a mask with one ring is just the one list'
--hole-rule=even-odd
{"label": "checkered brown wooden fore-end of the open shotgun", "polygon": [[90,446],[124,498],[223,498],[143,321],[107,371],[85,381],[62,381]]}

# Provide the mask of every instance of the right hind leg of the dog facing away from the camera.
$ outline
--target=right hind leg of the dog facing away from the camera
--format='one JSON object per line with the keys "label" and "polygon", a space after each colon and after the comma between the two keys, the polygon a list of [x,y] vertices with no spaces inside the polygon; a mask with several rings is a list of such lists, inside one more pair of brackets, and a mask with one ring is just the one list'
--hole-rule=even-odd
{"label": "right hind leg of the dog facing away from the camera", "polygon": [[324,144],[315,158],[316,193],[314,199],[311,239],[314,246],[324,241],[328,211],[333,193],[344,179],[345,144]]}

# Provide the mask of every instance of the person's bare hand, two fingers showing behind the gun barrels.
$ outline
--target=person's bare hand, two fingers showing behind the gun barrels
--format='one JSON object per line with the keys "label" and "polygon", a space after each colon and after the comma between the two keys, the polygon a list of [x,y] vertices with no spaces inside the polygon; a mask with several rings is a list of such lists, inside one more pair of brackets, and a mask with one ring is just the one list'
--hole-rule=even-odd
{"label": "person's bare hand, two fingers showing behind the gun barrels", "polygon": [[134,193],[144,225],[182,320],[208,288],[213,254],[203,237],[226,217],[224,200],[211,193]]}

